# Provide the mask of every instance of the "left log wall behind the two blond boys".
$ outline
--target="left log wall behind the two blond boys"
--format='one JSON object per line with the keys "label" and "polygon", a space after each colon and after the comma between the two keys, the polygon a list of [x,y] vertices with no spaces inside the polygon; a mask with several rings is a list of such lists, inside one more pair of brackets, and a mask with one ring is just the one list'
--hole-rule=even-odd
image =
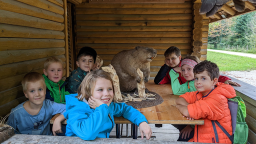
{"label": "left log wall behind the two blond boys", "polygon": [[[26,100],[21,80],[56,56],[66,67],[64,2],[0,0],[0,116]],[[63,75],[66,75],[64,69]]]}

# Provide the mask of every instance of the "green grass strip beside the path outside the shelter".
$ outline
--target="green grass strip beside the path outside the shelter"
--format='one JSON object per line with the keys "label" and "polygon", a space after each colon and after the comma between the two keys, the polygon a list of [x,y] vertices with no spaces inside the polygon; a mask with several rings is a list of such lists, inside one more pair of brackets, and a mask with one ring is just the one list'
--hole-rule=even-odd
{"label": "green grass strip beside the path outside the shelter", "polygon": [[256,69],[256,58],[207,51],[207,60],[216,63],[220,71]]}

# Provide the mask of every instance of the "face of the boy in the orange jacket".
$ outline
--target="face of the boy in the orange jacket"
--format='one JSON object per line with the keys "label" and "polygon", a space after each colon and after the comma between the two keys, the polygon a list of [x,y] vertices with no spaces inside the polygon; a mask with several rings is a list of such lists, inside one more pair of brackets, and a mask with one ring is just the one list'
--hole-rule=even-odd
{"label": "face of the boy in the orange jacket", "polygon": [[202,95],[206,95],[211,89],[213,89],[217,81],[218,79],[216,77],[211,80],[208,71],[206,70],[194,75],[194,87],[201,92]]}

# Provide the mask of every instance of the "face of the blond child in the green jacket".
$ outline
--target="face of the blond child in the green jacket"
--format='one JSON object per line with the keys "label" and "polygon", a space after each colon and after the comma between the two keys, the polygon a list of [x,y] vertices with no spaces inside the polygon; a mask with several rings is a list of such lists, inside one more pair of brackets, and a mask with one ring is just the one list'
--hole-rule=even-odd
{"label": "face of the blond child in the green jacket", "polygon": [[43,69],[43,73],[49,80],[57,83],[62,78],[63,65],[59,62],[50,63],[47,69]]}

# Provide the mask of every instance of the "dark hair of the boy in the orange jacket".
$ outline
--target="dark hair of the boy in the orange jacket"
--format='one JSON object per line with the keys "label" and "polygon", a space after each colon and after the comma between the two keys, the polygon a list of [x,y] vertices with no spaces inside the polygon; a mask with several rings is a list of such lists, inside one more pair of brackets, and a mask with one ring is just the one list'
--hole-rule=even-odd
{"label": "dark hair of the boy in the orange jacket", "polygon": [[196,64],[193,68],[194,74],[202,73],[204,70],[208,72],[210,76],[210,80],[219,77],[219,69],[216,63],[210,62],[208,60],[204,60],[198,64]]}

